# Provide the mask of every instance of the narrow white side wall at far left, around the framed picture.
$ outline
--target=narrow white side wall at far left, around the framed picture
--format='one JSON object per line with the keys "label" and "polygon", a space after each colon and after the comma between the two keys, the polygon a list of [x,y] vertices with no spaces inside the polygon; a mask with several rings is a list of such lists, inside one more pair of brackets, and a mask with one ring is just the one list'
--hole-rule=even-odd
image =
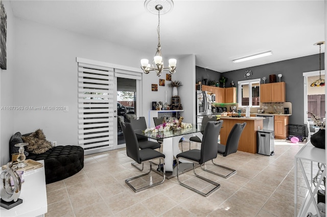
{"label": "narrow white side wall at far left, around the framed picture", "polygon": [[[0,69],[0,106],[14,106],[14,25],[15,20],[8,1],[2,1],[7,13],[7,69]],[[9,161],[9,140],[14,131],[14,111],[0,110],[0,163]]]}

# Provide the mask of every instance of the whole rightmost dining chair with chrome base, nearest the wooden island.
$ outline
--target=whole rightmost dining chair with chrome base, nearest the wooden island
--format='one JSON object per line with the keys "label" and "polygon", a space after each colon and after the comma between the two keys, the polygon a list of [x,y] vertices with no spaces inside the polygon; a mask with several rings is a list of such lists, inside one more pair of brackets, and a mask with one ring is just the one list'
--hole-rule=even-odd
{"label": "whole rightmost dining chair with chrome base, nearest the wooden island", "polygon": [[[241,134],[242,134],[245,126],[246,126],[246,122],[236,123],[233,126],[233,128],[231,128],[231,130],[230,130],[230,132],[228,134],[226,145],[222,145],[222,144],[218,143],[218,154],[219,155],[222,155],[222,156],[226,157],[229,154],[237,152],[237,149],[239,147],[240,137],[241,137]],[[236,173],[236,170],[234,170],[234,169],[230,169],[228,167],[216,164],[214,162],[214,159],[212,159],[212,162],[213,162],[214,165],[216,165],[218,167],[221,167],[221,168],[224,168],[224,169],[226,169],[228,171],[231,171],[231,172],[229,174],[227,174],[227,175],[223,175],[223,174],[216,173],[216,172],[213,172],[211,170],[205,169],[204,168],[205,165],[201,166],[202,170],[207,171],[209,173],[216,174],[216,175],[221,176],[223,178],[228,178],[229,176]]]}

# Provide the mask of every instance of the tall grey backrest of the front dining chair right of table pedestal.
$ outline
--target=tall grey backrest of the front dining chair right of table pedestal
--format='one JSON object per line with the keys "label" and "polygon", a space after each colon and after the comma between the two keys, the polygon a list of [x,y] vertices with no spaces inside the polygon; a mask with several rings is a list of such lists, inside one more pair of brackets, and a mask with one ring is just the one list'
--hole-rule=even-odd
{"label": "tall grey backrest of the front dining chair right of table pedestal", "polygon": [[207,122],[201,143],[201,159],[199,164],[204,164],[206,161],[214,159],[218,154],[218,137],[223,121]]}

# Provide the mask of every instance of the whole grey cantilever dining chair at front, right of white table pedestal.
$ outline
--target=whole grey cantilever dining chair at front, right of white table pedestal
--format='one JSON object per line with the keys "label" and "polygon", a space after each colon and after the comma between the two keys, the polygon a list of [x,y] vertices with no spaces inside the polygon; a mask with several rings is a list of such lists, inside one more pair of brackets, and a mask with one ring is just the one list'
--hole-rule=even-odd
{"label": "whole grey cantilever dining chair at front, right of white table pedestal", "polygon": [[[181,153],[177,154],[177,156],[176,156],[176,158],[177,158],[177,180],[178,180],[179,184],[181,184],[182,186],[189,188],[192,191],[194,191],[202,196],[205,196],[205,197],[210,195],[214,191],[216,191],[216,189],[218,189],[220,187],[220,184],[196,174],[194,164],[202,165],[206,161],[212,160],[217,157],[217,154],[218,154],[217,143],[218,143],[218,136],[219,136],[221,125],[222,125],[221,121],[220,122],[219,121],[209,121],[203,132],[201,149],[200,150],[199,149],[191,149],[189,151],[181,152]],[[182,183],[179,180],[179,176],[180,176],[179,160],[181,158],[190,160],[192,162],[193,173],[196,177],[198,177],[206,182],[209,182],[215,186],[209,192],[204,193],[204,192],[198,191],[197,189],[195,189],[194,187],[191,187],[190,185],[186,185],[185,183]],[[203,187],[201,187],[201,189],[202,188]]]}

